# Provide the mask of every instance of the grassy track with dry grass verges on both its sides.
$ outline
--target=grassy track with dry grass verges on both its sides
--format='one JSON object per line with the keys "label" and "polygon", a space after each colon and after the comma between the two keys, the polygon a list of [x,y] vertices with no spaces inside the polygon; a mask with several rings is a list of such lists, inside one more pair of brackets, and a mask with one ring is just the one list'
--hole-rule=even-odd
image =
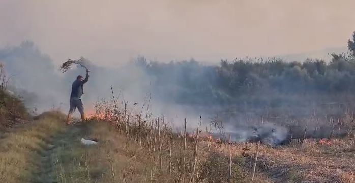
{"label": "grassy track with dry grass verges on both its sides", "polygon": [[[66,126],[65,115],[49,112],[0,136],[1,183],[173,180],[159,173],[144,148],[105,122]],[[82,145],[81,137],[98,144]]]}

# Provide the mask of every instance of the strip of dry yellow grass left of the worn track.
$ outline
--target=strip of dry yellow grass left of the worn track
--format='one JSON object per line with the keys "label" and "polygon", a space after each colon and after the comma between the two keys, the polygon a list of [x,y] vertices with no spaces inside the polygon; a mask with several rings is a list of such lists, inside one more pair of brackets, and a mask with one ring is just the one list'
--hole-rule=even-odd
{"label": "strip of dry yellow grass left of the worn track", "polygon": [[0,182],[29,182],[39,168],[51,135],[63,129],[59,114],[41,117],[8,132],[0,140]]}

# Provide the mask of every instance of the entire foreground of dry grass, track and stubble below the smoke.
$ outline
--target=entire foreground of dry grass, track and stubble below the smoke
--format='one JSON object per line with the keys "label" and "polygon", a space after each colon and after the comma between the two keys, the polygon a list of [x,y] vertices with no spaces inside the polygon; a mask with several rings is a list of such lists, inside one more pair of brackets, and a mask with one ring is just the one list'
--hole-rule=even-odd
{"label": "entire foreground of dry grass, track and stubble below the smoke", "polygon": [[[251,182],[255,143],[231,145],[230,176],[228,143],[172,133],[163,123],[148,130],[64,122],[46,112],[2,135],[0,182]],[[82,137],[98,144],[82,145]],[[353,138],[261,144],[258,155],[254,182],[355,182]]]}

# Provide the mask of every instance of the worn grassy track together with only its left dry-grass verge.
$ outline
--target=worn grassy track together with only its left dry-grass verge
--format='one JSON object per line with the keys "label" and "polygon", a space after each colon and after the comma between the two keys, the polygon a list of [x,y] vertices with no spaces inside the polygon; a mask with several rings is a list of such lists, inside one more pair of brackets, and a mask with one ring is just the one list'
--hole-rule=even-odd
{"label": "worn grassy track together with only its left dry-grass verge", "polygon": [[66,155],[80,147],[84,126],[66,126],[63,114],[48,112],[0,132],[0,182],[67,182],[61,180],[61,167],[73,159]]}

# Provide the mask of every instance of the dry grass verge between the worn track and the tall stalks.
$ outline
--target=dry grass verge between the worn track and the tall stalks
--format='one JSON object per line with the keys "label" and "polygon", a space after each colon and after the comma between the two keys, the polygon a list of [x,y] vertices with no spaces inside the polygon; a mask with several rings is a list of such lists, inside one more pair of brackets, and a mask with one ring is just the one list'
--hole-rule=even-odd
{"label": "dry grass verge between the worn track and the tall stalks", "polygon": [[58,151],[60,182],[166,182],[176,178],[169,168],[161,169],[152,161],[144,147],[108,123],[92,121],[82,128],[83,136],[99,139],[99,144],[84,147],[74,142],[67,147],[70,152]]}

